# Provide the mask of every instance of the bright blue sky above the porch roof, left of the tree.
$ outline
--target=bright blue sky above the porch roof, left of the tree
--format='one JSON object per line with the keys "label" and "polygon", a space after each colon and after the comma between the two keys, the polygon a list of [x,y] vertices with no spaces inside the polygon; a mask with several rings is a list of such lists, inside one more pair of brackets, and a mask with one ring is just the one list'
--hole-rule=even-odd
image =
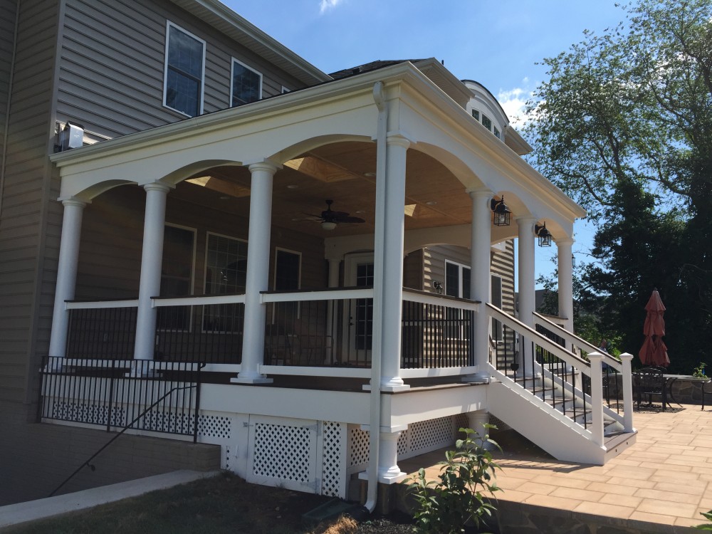
{"label": "bright blue sky above the porch roof, left of the tree", "polygon": [[[224,4],[326,73],[375,60],[437,58],[476,80],[515,120],[546,79],[537,65],[624,19],[619,0],[223,0]],[[592,230],[575,226],[585,261]],[[539,248],[537,273],[550,273],[556,247]]]}

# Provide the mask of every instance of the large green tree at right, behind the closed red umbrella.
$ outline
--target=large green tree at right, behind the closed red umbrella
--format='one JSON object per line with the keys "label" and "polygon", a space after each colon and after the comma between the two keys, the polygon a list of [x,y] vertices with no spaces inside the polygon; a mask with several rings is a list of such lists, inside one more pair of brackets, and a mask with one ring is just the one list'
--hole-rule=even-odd
{"label": "large green tree at right, behind the closed red umbrella", "polygon": [[681,371],[705,359],[712,330],[711,21],[711,0],[640,0],[545,59],[528,104],[533,164],[597,224],[582,281],[604,299],[602,320],[637,352],[658,288]]}

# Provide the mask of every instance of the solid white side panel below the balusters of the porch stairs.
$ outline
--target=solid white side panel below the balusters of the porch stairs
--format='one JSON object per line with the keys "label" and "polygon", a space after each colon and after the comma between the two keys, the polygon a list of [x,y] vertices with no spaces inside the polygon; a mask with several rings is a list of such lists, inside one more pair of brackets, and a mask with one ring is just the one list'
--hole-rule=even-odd
{"label": "solid white side panel below the balusters of the porch stairs", "polygon": [[507,377],[491,382],[488,412],[533,441],[554,458],[602,466],[606,448],[594,443],[592,433]]}

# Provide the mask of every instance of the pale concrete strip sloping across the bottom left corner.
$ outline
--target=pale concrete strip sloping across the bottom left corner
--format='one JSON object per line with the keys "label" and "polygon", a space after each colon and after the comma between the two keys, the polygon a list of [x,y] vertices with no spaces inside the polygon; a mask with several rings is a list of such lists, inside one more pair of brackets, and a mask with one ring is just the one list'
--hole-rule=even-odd
{"label": "pale concrete strip sloping across the bottom left corner", "polygon": [[162,475],[147,476],[137,480],[120,482],[110,486],[102,486],[66,495],[58,495],[28,501],[26,503],[10,504],[0,506],[0,528],[9,525],[18,525],[36,519],[48,518],[62,513],[84,510],[100,504],[112,503],[121,499],[135,497],[159,489],[172,488],[179,484],[185,484],[198,480],[216,476],[220,471],[173,471]]}

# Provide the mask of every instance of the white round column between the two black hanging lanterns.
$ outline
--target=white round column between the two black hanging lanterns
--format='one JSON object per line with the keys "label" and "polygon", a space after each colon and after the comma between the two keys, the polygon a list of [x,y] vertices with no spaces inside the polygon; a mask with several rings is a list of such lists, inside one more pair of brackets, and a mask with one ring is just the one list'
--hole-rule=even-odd
{"label": "white round column between the two black hanging lanterns", "polygon": [[[534,327],[535,285],[534,285],[534,223],[533,217],[518,217],[518,268],[519,268],[519,320]],[[524,376],[533,375],[531,340],[520,337],[519,357]]]}

